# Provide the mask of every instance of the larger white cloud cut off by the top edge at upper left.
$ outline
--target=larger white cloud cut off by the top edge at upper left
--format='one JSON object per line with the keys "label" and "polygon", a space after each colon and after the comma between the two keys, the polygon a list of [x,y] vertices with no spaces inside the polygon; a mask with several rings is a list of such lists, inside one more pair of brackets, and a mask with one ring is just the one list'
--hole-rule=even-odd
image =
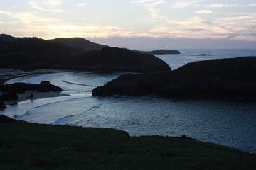
{"label": "larger white cloud cut off by the top edge at upper left", "polygon": [[62,9],[55,8],[62,4],[61,0],[48,0],[48,1],[28,1],[31,8],[35,8],[39,11],[53,12],[53,13],[64,13]]}

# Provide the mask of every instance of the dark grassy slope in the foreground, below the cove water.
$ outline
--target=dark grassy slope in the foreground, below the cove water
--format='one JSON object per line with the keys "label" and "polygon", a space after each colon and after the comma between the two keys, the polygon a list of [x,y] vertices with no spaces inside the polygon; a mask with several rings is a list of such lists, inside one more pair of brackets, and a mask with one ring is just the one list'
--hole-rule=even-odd
{"label": "dark grassy slope in the foreground, below the cove water", "polygon": [[256,155],[213,143],[0,115],[0,169],[256,169]]}

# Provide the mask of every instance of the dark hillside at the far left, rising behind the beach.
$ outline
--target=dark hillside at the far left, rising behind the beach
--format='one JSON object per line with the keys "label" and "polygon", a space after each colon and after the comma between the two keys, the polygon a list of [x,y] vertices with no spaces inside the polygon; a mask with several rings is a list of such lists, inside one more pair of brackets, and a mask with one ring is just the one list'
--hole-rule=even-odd
{"label": "dark hillside at the far left, rising behind the beach", "polygon": [[[10,36],[11,37],[11,36]],[[58,69],[68,66],[68,60],[78,49],[39,38],[8,38],[0,36],[0,68]]]}

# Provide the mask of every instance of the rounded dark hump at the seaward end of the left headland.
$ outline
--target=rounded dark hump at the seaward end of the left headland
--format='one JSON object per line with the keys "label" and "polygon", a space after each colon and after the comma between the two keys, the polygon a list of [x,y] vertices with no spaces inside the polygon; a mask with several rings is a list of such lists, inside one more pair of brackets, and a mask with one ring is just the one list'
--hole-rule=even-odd
{"label": "rounded dark hump at the seaward end of the left headland", "polygon": [[166,62],[154,55],[141,54],[131,50],[105,47],[102,50],[85,52],[70,61],[72,69],[123,72],[165,72],[170,71]]}

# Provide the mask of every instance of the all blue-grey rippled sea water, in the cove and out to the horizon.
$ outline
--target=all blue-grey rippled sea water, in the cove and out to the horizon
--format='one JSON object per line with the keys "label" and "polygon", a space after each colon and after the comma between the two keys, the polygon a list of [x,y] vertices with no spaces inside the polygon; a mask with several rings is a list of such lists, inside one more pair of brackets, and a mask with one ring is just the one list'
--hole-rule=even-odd
{"label": "all blue-grey rippled sea water, in the cove and out to the horizon", "polygon": [[[172,69],[188,62],[256,56],[256,50],[180,50],[181,55],[156,55]],[[198,54],[211,54],[198,56]],[[37,84],[50,81],[63,88],[57,98],[23,101],[0,114],[28,122],[117,128],[130,135],[164,135],[196,138],[256,153],[255,102],[225,100],[189,100],[159,96],[92,97],[91,91],[115,79],[123,72],[54,72],[28,75],[6,83]]]}

